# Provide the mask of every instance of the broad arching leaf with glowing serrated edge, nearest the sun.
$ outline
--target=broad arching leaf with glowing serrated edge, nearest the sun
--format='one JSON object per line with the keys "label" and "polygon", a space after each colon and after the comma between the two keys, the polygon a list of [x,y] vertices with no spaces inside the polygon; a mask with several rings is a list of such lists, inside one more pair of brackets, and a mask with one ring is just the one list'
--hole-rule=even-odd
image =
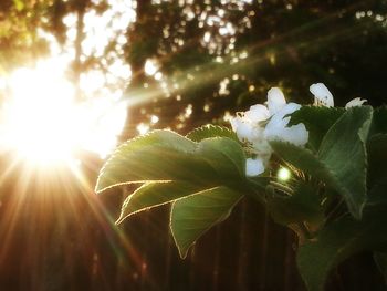
{"label": "broad arching leaf with glowing serrated edge, nearest the sun", "polygon": [[119,146],[106,162],[96,191],[129,183],[213,181],[241,184],[245,157],[242,147],[226,137],[195,143],[170,131],[155,131]]}

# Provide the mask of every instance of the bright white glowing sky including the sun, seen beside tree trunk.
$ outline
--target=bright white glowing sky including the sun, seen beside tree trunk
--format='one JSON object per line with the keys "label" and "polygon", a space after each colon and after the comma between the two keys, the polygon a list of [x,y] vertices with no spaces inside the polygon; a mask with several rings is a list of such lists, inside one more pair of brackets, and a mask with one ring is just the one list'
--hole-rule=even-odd
{"label": "bright white glowing sky including the sun, seen beside tree trunk", "polygon": [[117,39],[118,44],[103,60],[104,72],[92,69],[81,74],[81,102],[75,100],[75,85],[66,76],[75,56],[75,14],[63,19],[67,27],[64,46],[40,30],[51,55],[33,66],[0,75],[0,152],[17,150],[24,160],[51,165],[74,162],[79,150],[104,158],[114,149],[127,118],[122,95],[132,72],[121,56],[135,11],[132,0],[108,2],[111,8],[104,13],[90,10],[84,17],[81,61],[104,58],[112,39]]}

